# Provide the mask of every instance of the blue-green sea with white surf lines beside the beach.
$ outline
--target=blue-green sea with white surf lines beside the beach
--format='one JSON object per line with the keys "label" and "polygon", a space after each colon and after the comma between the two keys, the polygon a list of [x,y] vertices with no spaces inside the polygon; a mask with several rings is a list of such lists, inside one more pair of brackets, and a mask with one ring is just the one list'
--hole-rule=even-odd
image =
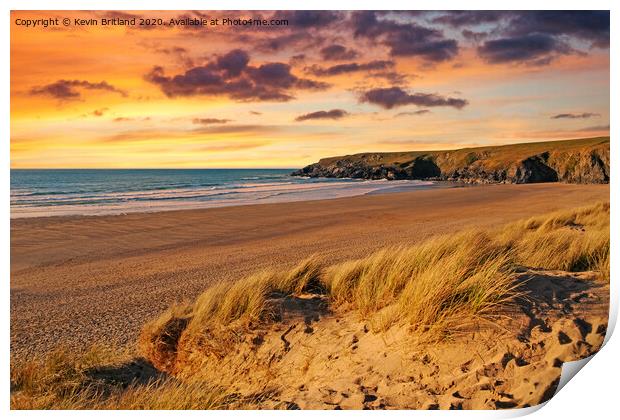
{"label": "blue-green sea with white surf lines beside the beach", "polygon": [[293,169],[12,169],[11,218],[321,200],[427,181],[292,177]]}

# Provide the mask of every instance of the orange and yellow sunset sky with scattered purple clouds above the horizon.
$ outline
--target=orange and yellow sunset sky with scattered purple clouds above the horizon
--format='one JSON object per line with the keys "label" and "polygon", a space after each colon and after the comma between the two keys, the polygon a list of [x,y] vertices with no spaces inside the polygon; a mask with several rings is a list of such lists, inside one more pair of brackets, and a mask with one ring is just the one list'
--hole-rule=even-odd
{"label": "orange and yellow sunset sky with scattered purple clouds above the horizon", "polygon": [[15,169],[297,168],[606,135],[607,11],[11,13]]}

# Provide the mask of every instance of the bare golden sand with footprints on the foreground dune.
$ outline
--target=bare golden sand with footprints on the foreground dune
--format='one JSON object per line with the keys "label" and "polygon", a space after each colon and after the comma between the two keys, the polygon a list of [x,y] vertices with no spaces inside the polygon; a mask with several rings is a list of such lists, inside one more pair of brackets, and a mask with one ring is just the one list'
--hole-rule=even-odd
{"label": "bare golden sand with footprints on the foreground dune", "polygon": [[224,378],[235,392],[263,393],[262,408],[537,405],[553,395],[562,362],[600,348],[609,288],[590,272],[528,271],[522,277],[530,279],[529,301],[510,317],[431,344],[416,342],[406,328],[375,333],[366,321],[326,312],[321,296],[301,296],[285,303],[281,324],[257,331],[200,379]]}

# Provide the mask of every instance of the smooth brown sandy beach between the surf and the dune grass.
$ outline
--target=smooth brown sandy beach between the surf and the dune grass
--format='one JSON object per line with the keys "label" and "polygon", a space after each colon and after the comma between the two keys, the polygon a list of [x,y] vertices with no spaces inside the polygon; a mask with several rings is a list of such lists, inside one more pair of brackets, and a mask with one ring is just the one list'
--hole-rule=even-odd
{"label": "smooth brown sandy beach between the surf and the dune grass", "polygon": [[330,200],[11,220],[11,353],[133,345],[214,282],[336,263],[609,199],[609,185],[481,185]]}

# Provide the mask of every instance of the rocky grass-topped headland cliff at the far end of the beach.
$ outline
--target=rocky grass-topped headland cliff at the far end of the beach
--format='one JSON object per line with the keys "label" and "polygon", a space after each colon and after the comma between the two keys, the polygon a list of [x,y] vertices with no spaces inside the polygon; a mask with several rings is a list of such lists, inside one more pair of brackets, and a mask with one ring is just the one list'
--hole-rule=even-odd
{"label": "rocky grass-topped headland cliff at the far end of the beach", "polygon": [[294,176],[468,183],[609,182],[609,137],[321,159]]}

